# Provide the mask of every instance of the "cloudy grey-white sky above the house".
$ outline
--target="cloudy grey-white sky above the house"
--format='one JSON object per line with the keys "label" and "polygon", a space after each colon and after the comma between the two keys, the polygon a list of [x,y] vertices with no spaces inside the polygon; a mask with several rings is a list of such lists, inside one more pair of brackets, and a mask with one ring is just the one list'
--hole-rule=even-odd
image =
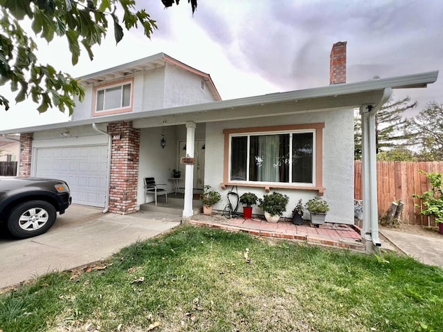
{"label": "cloudy grey-white sky above the house", "polygon": [[[224,100],[329,85],[336,42],[347,42],[347,82],[443,69],[440,0],[199,0],[193,17],[186,0],[167,9],[161,0],[136,2],[157,21],[151,39],[125,30],[116,46],[110,30],[93,48],[93,62],[83,51],[75,67],[64,39],[39,41],[39,61],[80,77],[163,52],[209,73]],[[395,96],[417,100],[415,113],[433,100],[442,104],[442,75],[426,89]],[[0,93],[10,96],[7,88]],[[32,102],[10,99],[9,111],[0,108],[0,130],[67,120],[60,111],[39,115]]]}

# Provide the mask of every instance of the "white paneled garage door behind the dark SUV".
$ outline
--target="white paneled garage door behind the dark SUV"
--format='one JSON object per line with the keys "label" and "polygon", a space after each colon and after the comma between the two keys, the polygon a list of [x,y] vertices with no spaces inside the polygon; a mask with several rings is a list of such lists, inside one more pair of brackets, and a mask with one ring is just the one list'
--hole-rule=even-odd
{"label": "white paneled garage door behind the dark SUV", "polygon": [[107,145],[39,147],[35,176],[68,183],[73,203],[105,207]]}

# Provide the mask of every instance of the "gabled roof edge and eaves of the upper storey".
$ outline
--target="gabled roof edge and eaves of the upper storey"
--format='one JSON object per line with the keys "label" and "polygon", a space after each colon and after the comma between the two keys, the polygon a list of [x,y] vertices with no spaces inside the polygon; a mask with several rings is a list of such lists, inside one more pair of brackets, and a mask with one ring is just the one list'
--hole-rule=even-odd
{"label": "gabled roof edge and eaves of the upper storey", "polygon": [[178,66],[185,71],[200,76],[201,79],[204,80],[206,84],[208,84],[213,98],[215,100],[221,100],[221,96],[217,91],[217,88],[215,87],[215,84],[209,74],[204,73],[203,71],[199,71],[196,68],[192,68],[187,64],[183,64],[183,62],[180,62],[179,60],[174,59],[173,57],[170,57],[165,53],[157,53],[149,57],[144,57],[143,59],[128,62],[127,64],[120,64],[119,66],[107,68],[103,71],[84,75],[82,77],[78,77],[78,80],[80,80],[80,84],[84,85],[95,83],[101,84],[111,80],[118,80],[127,75],[134,75],[135,73],[138,73],[140,71],[150,71],[152,69],[164,67],[166,66],[166,64]]}

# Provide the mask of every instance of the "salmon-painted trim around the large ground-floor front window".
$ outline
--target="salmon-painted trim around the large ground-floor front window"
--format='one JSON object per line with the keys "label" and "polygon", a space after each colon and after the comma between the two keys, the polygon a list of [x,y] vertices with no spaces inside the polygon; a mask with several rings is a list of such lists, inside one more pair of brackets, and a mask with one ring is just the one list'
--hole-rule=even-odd
{"label": "salmon-painted trim around the large ground-floor front window", "polygon": [[[266,192],[270,192],[271,188],[275,189],[300,189],[300,190],[316,190],[320,196],[325,192],[323,187],[323,128],[325,122],[315,122],[307,124],[287,124],[282,126],[272,127],[248,127],[248,128],[234,128],[224,129],[224,170],[223,182],[220,183],[221,189],[226,189],[228,186],[237,185],[238,187],[261,187]],[[314,130],[315,142],[315,165],[314,165],[314,185],[298,185],[293,183],[254,183],[254,182],[237,182],[230,181],[229,176],[229,159],[230,159],[230,136],[241,135],[248,133],[278,133],[284,131],[300,131],[300,130]]]}

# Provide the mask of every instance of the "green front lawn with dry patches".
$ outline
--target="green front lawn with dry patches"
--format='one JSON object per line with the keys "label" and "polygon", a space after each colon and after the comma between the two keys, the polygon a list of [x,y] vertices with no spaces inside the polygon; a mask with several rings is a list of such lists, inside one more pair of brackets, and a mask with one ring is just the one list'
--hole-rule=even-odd
{"label": "green front lawn with dry patches", "polygon": [[182,226],[102,265],[3,293],[0,330],[443,331],[442,269],[394,254]]}

